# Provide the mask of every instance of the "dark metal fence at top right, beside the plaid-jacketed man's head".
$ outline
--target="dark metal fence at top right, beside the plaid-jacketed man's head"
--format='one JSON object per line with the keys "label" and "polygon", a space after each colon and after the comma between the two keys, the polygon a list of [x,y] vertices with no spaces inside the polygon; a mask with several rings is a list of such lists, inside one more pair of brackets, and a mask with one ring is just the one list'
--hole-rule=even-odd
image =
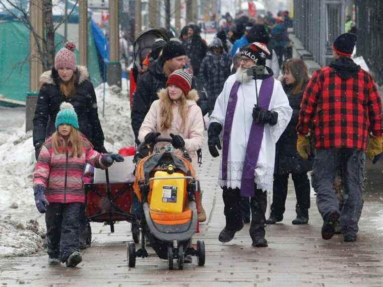
{"label": "dark metal fence at top right, beside the plaid-jacketed man's head", "polygon": [[383,85],[383,1],[355,0],[357,54],[362,55],[375,81]]}

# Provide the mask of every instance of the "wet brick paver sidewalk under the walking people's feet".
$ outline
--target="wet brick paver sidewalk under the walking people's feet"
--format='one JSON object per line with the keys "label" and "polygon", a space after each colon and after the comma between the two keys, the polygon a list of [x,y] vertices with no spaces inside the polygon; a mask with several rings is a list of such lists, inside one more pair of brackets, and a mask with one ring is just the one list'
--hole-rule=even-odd
{"label": "wet brick paver sidewalk under the walking people's feet", "polygon": [[[268,248],[251,247],[249,225],[233,241],[222,244],[218,234],[224,227],[221,189],[216,185],[219,160],[204,151],[200,172],[208,221],[194,241],[206,244],[206,265],[185,264],[169,271],[149,248],[150,257],[137,258],[136,268],[127,267],[126,242],[132,241],[130,224],[92,224],[93,244],[84,250],[78,268],[48,267],[44,252],[30,257],[0,261],[0,287],[28,286],[383,286],[383,231],[376,230],[376,212],[383,204],[365,198],[358,240],[343,242],[321,238],[322,220],[315,197],[311,198],[309,225],[293,226],[295,194],[290,186],[285,219],[268,226]],[[40,218],[41,221],[41,218]],[[0,231],[1,232],[1,231]],[[175,262],[174,262],[175,263]],[[176,264],[175,264],[176,265]]]}

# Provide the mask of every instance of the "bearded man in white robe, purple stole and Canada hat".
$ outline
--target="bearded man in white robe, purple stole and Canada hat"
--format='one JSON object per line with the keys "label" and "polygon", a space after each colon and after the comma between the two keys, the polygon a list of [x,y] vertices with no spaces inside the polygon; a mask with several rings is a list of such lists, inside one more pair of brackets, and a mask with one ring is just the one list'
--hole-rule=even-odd
{"label": "bearded man in white robe, purple stole and Canada hat", "polygon": [[[229,242],[243,228],[241,196],[250,196],[252,246],[267,247],[265,239],[267,192],[273,190],[275,144],[288,125],[292,109],[273,71],[249,76],[254,66],[264,67],[269,50],[265,44],[248,45],[240,67],[230,76],[210,116],[209,151],[219,156],[223,138],[218,183],[223,189],[226,226],[219,241]],[[257,92],[256,92],[257,89]]]}

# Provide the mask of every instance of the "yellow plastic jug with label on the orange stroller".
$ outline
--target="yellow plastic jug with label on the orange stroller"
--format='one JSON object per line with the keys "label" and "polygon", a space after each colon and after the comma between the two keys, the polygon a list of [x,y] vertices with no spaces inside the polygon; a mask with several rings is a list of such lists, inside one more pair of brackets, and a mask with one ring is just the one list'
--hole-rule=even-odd
{"label": "yellow plastic jug with label on the orange stroller", "polygon": [[182,213],[186,199],[186,180],[172,179],[183,176],[181,173],[169,174],[166,171],[156,171],[153,181],[150,209],[169,213]]}

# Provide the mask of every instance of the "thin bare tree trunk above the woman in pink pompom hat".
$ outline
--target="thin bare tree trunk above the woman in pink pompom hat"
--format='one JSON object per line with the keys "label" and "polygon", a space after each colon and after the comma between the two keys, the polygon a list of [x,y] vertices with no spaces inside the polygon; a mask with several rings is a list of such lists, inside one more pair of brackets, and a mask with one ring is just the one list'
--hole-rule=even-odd
{"label": "thin bare tree trunk above the woman in pink pompom hat", "polygon": [[52,0],[44,0],[43,14],[45,21],[45,50],[46,50],[46,66],[50,69],[54,65],[54,25],[52,15]]}

